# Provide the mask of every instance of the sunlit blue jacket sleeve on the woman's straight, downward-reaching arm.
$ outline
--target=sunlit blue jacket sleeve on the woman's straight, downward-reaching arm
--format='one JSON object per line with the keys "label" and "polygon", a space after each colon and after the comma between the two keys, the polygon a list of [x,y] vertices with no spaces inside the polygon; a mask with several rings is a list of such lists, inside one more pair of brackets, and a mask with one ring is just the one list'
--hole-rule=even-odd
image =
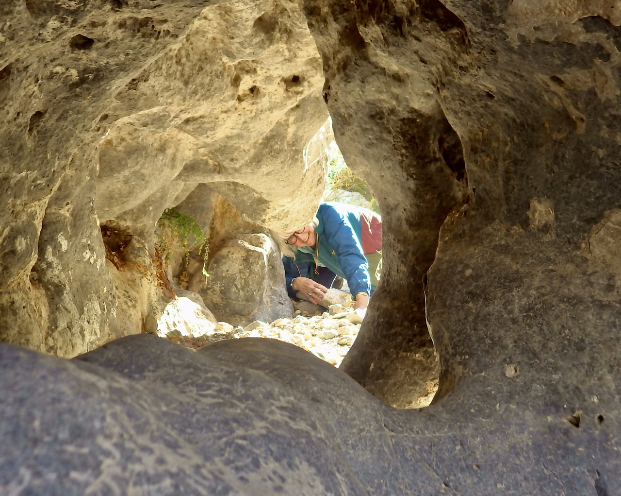
{"label": "sunlit blue jacket sleeve on the woman's straight, downward-reaching arm", "polygon": [[371,292],[369,264],[363,254],[360,240],[346,216],[330,207],[322,211],[324,234],[347,279],[351,295]]}

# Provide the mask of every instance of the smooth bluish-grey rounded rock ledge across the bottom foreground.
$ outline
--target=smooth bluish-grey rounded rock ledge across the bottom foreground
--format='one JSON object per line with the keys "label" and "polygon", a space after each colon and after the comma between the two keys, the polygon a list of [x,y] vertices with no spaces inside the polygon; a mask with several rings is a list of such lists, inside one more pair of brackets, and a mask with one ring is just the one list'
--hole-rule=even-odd
{"label": "smooth bluish-grey rounded rock ledge across the bottom foreground", "polygon": [[6,494],[612,496],[621,487],[619,418],[603,405],[592,403],[601,421],[589,412],[516,422],[525,405],[502,400],[499,384],[498,408],[395,410],[272,339],[195,353],[129,336],[72,361],[0,344],[0,372]]}

